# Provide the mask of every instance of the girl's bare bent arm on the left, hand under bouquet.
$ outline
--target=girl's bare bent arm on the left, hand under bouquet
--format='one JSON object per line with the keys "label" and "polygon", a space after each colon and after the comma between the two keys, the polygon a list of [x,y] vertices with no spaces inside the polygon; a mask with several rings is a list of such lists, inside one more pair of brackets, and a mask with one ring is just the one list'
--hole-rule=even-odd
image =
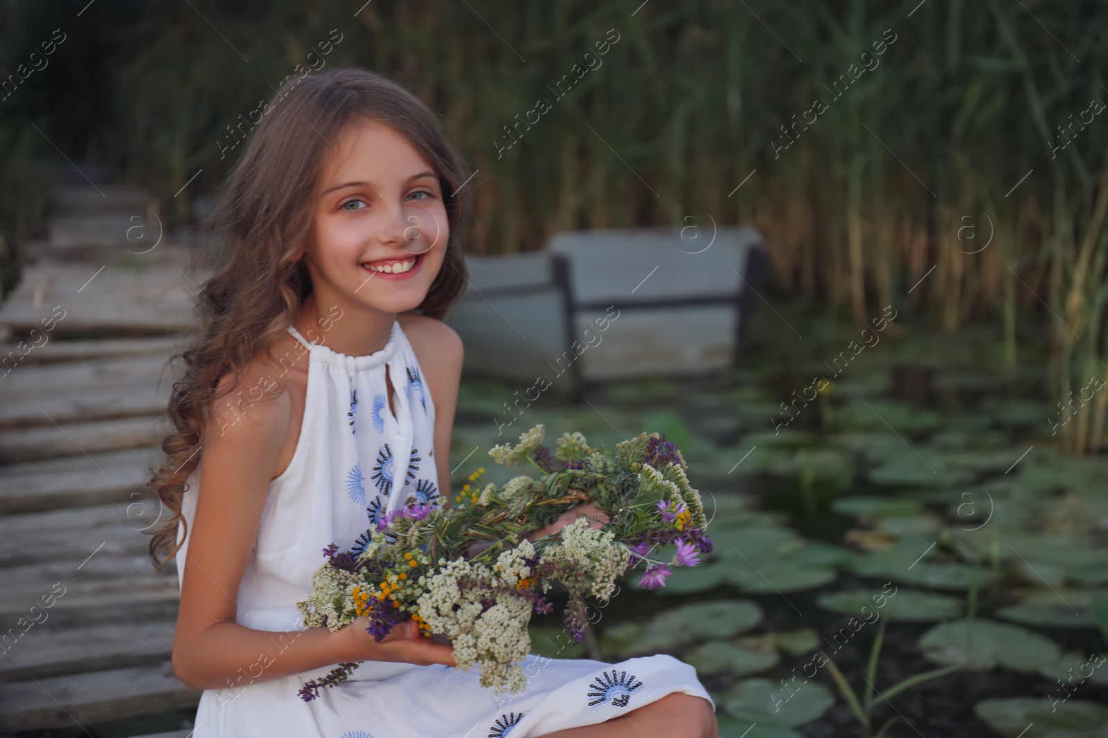
{"label": "girl's bare bent arm on the left, hand under bouquet", "polygon": [[[253,386],[244,380],[244,384]],[[255,381],[256,384],[256,381]],[[234,396],[232,393],[230,396]],[[268,682],[357,661],[453,665],[449,646],[396,628],[376,643],[367,623],[327,628],[258,631],[235,622],[238,585],[257,538],[269,482],[289,433],[286,391],[255,402],[235,423],[211,414],[173,642],[173,669],[197,689]],[[315,412],[306,407],[305,412]],[[226,420],[226,419],[225,419]],[[320,561],[322,561],[320,559]],[[365,620],[365,619],[361,619]],[[295,695],[290,695],[290,698]]]}

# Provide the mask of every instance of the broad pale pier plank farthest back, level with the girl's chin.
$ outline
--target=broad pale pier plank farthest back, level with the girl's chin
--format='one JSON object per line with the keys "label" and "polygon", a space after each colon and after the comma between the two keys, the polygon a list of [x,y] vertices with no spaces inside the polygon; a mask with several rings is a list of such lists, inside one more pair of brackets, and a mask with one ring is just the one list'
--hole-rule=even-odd
{"label": "broad pale pier plank farthest back, level with the girl's chin", "polygon": [[184,330],[193,323],[194,295],[207,274],[207,270],[153,263],[102,270],[93,264],[32,264],[0,305],[0,323],[14,330],[41,330],[43,320],[53,316],[52,337]]}

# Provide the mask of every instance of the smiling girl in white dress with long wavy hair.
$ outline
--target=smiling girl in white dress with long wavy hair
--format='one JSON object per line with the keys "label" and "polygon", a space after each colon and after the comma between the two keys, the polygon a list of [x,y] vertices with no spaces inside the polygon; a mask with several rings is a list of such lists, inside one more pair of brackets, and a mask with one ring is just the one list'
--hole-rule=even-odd
{"label": "smiling girl in white dress with long wavy hair", "polygon": [[[304,627],[325,547],[450,499],[462,344],[440,321],[466,281],[468,171],[427,106],[358,69],[300,81],[252,136],[213,216],[226,263],[201,291],[151,480],[174,512],[151,555],[177,563],[173,668],[204,690],[195,738],[715,737],[715,703],[673,656],[532,654],[526,690],[504,697],[413,622],[380,643],[366,617]],[[579,506],[529,538],[582,512],[604,520]],[[366,663],[298,698],[347,662]]]}

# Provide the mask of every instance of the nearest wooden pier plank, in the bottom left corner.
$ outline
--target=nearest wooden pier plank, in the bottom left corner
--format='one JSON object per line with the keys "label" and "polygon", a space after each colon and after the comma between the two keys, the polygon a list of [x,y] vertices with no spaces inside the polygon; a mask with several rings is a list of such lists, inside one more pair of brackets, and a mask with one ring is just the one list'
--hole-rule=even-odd
{"label": "nearest wooden pier plank, in the bottom left corner", "polygon": [[195,707],[201,694],[173,675],[168,661],[154,666],[13,682],[0,685],[0,729],[75,727],[167,713]]}

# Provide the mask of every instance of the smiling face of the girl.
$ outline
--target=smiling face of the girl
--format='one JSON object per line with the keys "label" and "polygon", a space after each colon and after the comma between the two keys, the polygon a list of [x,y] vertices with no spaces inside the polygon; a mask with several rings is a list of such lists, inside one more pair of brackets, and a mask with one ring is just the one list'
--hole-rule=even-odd
{"label": "smiling face of the girl", "polygon": [[305,249],[320,304],[418,308],[450,237],[439,177],[402,135],[377,122],[353,125],[331,144]]}

